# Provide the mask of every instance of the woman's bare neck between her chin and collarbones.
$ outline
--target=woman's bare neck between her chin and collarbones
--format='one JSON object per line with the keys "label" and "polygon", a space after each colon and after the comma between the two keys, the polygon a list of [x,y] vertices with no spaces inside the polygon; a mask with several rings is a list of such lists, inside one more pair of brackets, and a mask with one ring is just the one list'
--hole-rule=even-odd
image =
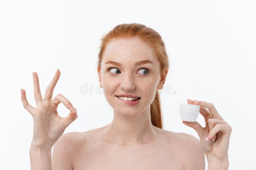
{"label": "woman's bare neck between her chin and collarbones", "polygon": [[106,131],[110,143],[122,145],[148,144],[156,139],[156,127],[151,123],[150,106],[136,116],[121,115],[114,110],[113,121]]}

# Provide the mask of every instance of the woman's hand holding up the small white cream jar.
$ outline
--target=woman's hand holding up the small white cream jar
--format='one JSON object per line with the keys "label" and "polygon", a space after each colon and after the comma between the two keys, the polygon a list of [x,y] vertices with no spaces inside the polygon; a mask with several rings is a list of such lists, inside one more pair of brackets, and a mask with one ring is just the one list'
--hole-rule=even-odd
{"label": "woman's hand holding up the small white cream jar", "polygon": [[231,126],[223,120],[212,103],[189,99],[188,103],[200,105],[199,112],[204,116],[205,127],[203,128],[198,122],[182,121],[182,123],[196,130],[207,158],[220,160],[226,158],[232,131]]}

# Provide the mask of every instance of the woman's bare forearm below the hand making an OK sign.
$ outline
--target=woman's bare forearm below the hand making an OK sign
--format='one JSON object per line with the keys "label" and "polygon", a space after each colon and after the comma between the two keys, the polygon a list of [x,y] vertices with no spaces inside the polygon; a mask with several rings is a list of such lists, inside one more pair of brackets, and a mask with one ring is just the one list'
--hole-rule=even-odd
{"label": "woman's bare forearm below the hand making an OK sign", "polygon": [[29,149],[31,170],[52,170],[52,148],[40,148],[31,144]]}

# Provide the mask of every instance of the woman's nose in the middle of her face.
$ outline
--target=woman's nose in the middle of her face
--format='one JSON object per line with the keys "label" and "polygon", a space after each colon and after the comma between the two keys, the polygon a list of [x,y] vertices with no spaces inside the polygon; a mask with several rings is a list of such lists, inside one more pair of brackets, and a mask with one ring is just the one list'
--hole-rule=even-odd
{"label": "woman's nose in the middle of her face", "polygon": [[124,74],[120,83],[120,87],[125,93],[132,92],[136,88],[134,75]]}

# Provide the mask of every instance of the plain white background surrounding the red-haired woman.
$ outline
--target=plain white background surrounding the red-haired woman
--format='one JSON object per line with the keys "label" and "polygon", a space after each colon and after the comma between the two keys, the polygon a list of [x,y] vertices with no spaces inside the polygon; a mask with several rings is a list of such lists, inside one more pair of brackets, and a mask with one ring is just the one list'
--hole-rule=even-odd
{"label": "plain white background surrounding the red-haired woman", "polygon": [[[170,70],[165,85],[172,86],[172,94],[161,95],[164,129],[198,138],[181,123],[180,103],[188,98],[213,103],[232,127],[229,169],[252,169],[255,7],[254,1],[1,1],[1,169],[30,169],[33,118],[23,108],[20,88],[35,107],[32,71],[38,73],[44,96],[60,69],[53,96],[66,96],[78,114],[64,133],[111,123],[113,110],[95,89],[96,62],[101,36],[123,23],[156,30],[166,45]],[[79,89],[86,82],[95,87],[82,94]],[[69,113],[61,104],[58,111],[61,117]],[[197,121],[205,126],[202,115]]]}

